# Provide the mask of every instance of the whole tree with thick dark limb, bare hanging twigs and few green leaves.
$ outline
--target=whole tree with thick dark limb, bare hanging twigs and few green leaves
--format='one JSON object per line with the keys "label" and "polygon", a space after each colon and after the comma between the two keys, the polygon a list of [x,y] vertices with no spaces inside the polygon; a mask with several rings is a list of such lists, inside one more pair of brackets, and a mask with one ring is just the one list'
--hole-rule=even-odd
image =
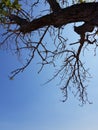
{"label": "whole tree with thick dark limb, bare hanging twigs and few green leaves", "polygon": [[[34,10],[40,6],[45,8],[41,8],[41,13],[33,14]],[[81,0],[70,2],[66,0],[58,2],[56,0],[34,0],[33,2],[1,0],[0,7],[0,22],[3,29],[1,48],[7,45],[14,49],[17,55],[24,51],[27,54],[25,65],[12,71],[10,79],[24,71],[36,54],[41,62],[39,72],[45,65],[52,64],[55,67],[57,65],[55,60],[62,56],[62,65],[48,82],[60,76],[63,101],[67,100],[69,90],[73,91],[75,88],[73,95],[78,96],[82,104],[89,102],[86,82],[90,74],[81,61],[81,55],[91,44],[95,46],[96,54],[98,3],[87,3]],[[77,22],[82,23],[76,26]],[[67,43],[63,32],[71,23],[80,39],[74,43]],[[47,35],[53,41],[51,45],[45,41]],[[10,40],[14,41],[14,45],[10,43]]]}

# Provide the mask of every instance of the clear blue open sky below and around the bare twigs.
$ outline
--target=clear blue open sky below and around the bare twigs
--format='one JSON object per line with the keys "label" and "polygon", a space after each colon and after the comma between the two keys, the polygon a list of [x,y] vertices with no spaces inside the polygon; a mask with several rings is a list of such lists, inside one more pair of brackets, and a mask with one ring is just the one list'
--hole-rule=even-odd
{"label": "clear blue open sky below and around the bare twigs", "polygon": [[[71,35],[71,41],[77,38],[69,27],[67,34]],[[10,72],[19,64],[18,59],[0,50],[0,130],[97,130],[98,54],[94,56],[92,49],[91,45],[84,58],[93,76],[88,87],[93,104],[83,107],[72,95],[62,103],[63,95],[56,80],[42,85],[53,70],[48,66],[38,75],[37,58],[23,73],[9,80]]]}

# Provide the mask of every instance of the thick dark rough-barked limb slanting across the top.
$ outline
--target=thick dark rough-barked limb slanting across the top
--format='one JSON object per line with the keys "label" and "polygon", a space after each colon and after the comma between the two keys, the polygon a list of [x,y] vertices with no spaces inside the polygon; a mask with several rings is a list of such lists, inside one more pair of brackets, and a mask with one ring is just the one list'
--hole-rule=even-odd
{"label": "thick dark rough-barked limb slanting across the top", "polygon": [[[96,21],[96,19],[98,19],[98,3],[82,3],[72,5],[61,9],[56,13],[53,12],[35,19],[26,25],[21,26],[20,31],[23,33],[29,33],[45,26],[52,25],[54,27],[61,27],[62,25],[81,21],[84,21],[85,23],[93,21],[94,25],[94,21]],[[98,24],[96,22],[96,25],[94,26],[97,25]]]}

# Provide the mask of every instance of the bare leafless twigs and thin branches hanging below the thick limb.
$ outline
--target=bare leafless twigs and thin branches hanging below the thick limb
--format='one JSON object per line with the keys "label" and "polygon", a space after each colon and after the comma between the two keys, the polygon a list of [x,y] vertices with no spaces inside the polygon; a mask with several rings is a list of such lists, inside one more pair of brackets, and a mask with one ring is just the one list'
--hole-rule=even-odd
{"label": "bare leafless twigs and thin branches hanging below the thick limb", "polygon": [[[31,6],[32,9],[33,7],[37,6],[38,3],[39,0],[34,2]],[[21,15],[23,15],[25,18],[28,17],[28,13],[23,10],[21,10]],[[10,18],[12,18],[12,21]],[[19,18],[17,20],[24,20],[20,17],[17,18]],[[12,15],[10,15],[10,17],[8,16],[8,21],[4,23],[6,26],[6,32],[2,34],[3,41],[0,43],[0,47],[4,46],[5,44],[7,46],[12,46],[12,50],[14,49],[15,53],[18,55],[20,55],[22,51],[26,52],[27,50],[28,52],[25,65],[12,71],[10,79],[13,79],[17,74],[23,72],[33,61],[36,54],[41,59],[41,67],[39,72],[42,71],[45,65],[52,64],[55,66],[55,59],[62,55],[64,61],[60,69],[56,71],[54,76],[50,78],[48,82],[60,76],[60,82],[62,85],[61,90],[64,94],[63,101],[67,100],[68,92],[72,91],[74,96],[79,97],[79,101],[82,104],[89,102],[86,91],[86,82],[88,78],[90,78],[90,74],[88,69],[85,68],[85,65],[81,61],[81,53],[85,51],[85,48],[88,45],[95,44],[94,51],[96,54],[96,48],[98,46],[96,38],[98,32],[97,29],[95,29],[93,33],[80,33],[80,39],[78,42],[68,44],[67,40],[61,35],[61,31],[63,30],[62,27],[55,29],[51,26],[47,26],[43,29],[30,32],[28,34],[23,34],[19,30],[19,27],[22,25],[18,24],[18,22],[15,21]],[[74,28],[76,29],[76,27]],[[54,44],[51,44],[51,47],[48,47],[44,40],[47,35],[50,35],[50,37],[53,38],[52,40]],[[39,40],[37,40],[38,38]],[[10,45],[10,40],[13,40],[14,45]]]}

